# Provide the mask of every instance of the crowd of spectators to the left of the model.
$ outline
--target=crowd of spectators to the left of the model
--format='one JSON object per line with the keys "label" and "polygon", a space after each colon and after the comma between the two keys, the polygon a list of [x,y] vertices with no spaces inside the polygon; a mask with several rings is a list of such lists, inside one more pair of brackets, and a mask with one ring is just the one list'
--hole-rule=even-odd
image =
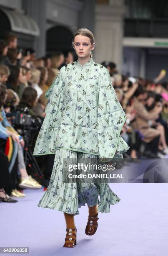
{"label": "crowd of spectators to the left of the model", "polygon": [[[71,62],[71,52],[63,54],[58,51],[50,58],[44,56],[38,59],[33,49],[18,48],[18,38],[11,33],[0,42],[0,164],[3,164],[0,172],[0,200],[3,202],[17,202],[10,196],[25,197],[25,188],[42,187],[42,182],[27,172],[24,159],[26,139],[23,134],[18,134],[20,129],[15,127],[11,113],[20,111],[31,116],[32,120],[40,120],[38,133],[45,118],[45,92],[59,69]],[[31,130],[30,127],[27,129]],[[53,155],[40,158],[38,164],[41,164],[42,169],[45,166],[45,179],[49,181]]]}

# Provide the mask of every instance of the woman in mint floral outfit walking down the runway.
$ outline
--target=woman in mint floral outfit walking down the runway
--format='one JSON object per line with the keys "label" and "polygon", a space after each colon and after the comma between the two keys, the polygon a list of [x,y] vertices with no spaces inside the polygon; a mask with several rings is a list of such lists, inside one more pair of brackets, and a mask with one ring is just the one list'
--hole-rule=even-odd
{"label": "woman in mint floral outfit walking down the runway", "polygon": [[110,212],[110,205],[120,198],[107,183],[65,183],[63,159],[81,163],[85,159],[122,158],[122,153],[129,149],[120,136],[125,113],[108,70],[92,59],[94,46],[94,36],[88,29],[75,33],[73,47],[78,60],[63,66],[45,93],[46,116],[33,152],[35,156],[55,154],[50,182],[38,206],[64,212],[64,247],[76,245],[73,216],[79,214],[78,208],[87,203],[85,233],[92,236],[98,227],[98,212]]}

